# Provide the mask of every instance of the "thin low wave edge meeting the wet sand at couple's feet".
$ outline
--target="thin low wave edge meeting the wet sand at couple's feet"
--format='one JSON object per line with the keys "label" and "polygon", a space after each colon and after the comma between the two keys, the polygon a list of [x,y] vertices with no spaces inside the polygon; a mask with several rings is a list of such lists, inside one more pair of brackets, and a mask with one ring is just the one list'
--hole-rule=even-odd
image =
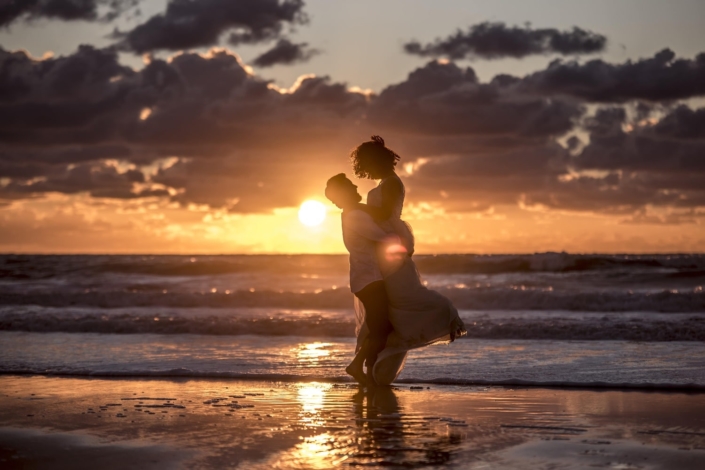
{"label": "thin low wave edge meeting the wet sand at couple's feet", "polygon": [[[353,381],[347,376],[297,375],[297,374],[243,374],[233,372],[205,372],[190,369],[168,370],[131,370],[131,371],[93,371],[83,370],[47,370],[47,369],[0,369],[0,375],[43,375],[53,377],[102,377],[102,378],[194,378],[194,379],[233,379],[272,382],[325,382],[340,386],[352,386]],[[393,385],[428,384],[455,386],[510,386],[510,387],[543,387],[543,388],[598,388],[598,389],[629,389],[629,390],[669,390],[705,392],[705,384],[700,383],[668,383],[668,382],[580,382],[555,380],[524,380],[524,379],[460,379],[460,378],[405,378],[399,379]],[[354,386],[357,386],[355,384]]]}

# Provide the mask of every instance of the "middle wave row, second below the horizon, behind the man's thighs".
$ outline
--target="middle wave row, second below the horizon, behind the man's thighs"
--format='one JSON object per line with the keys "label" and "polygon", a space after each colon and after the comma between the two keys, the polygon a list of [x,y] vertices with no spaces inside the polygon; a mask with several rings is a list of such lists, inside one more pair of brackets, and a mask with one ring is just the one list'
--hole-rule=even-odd
{"label": "middle wave row, second below the horizon, behind the man's thighs", "polygon": [[[507,287],[439,288],[459,309],[467,310],[569,310],[586,312],[705,312],[702,290],[660,292],[564,292],[548,289]],[[320,292],[278,292],[240,290],[229,293],[90,291],[2,292],[0,305],[40,305],[46,307],[175,307],[286,309],[350,308],[352,294],[347,289]]]}

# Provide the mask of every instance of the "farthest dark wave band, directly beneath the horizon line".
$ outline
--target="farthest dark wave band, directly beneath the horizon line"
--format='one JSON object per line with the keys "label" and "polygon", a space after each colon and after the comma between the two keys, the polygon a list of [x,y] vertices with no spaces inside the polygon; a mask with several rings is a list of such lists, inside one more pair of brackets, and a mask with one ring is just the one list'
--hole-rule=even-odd
{"label": "farthest dark wave band, directly beneath the horizon line", "polygon": [[[415,255],[428,274],[671,270],[705,275],[705,255]],[[153,276],[206,276],[234,273],[346,273],[344,255],[0,255],[0,279],[49,279],[84,272]]]}

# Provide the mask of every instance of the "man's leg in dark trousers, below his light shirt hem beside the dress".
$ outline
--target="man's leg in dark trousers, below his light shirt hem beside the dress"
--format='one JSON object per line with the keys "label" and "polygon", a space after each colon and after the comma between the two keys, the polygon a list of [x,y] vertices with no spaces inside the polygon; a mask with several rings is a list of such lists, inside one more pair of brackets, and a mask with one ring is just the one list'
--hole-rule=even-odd
{"label": "man's leg in dark trousers, below his light shirt hem beside the dress", "polygon": [[393,327],[389,322],[389,301],[384,281],[375,281],[366,285],[355,295],[365,306],[365,322],[370,330],[369,344],[365,358],[368,376],[371,376],[372,367],[377,362],[377,354],[384,349],[387,336]]}

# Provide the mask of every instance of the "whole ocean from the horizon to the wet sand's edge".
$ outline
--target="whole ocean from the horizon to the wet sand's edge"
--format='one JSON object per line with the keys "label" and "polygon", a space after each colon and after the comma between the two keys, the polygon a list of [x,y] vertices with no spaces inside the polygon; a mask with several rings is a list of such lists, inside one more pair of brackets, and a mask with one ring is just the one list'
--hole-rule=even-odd
{"label": "whole ocean from the horizon to the wet sand's edge", "polygon": [[[415,255],[468,336],[399,382],[705,389],[705,255]],[[345,381],[343,255],[0,256],[0,374]]]}

